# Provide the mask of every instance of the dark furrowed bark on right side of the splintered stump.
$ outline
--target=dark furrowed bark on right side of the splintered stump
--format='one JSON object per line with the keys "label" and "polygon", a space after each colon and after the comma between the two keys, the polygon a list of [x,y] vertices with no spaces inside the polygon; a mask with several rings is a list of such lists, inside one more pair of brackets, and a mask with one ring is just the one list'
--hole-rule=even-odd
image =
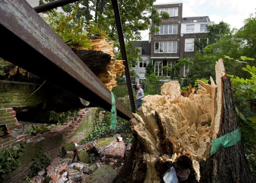
{"label": "dark furrowed bark on right side of the splintered stump", "polygon": [[[230,133],[239,126],[230,87],[230,78],[223,77],[223,83],[224,116],[221,131],[217,137]],[[242,140],[234,146],[218,150],[207,161],[202,161],[200,170],[202,170],[200,179],[202,183],[255,183],[245,157]]]}

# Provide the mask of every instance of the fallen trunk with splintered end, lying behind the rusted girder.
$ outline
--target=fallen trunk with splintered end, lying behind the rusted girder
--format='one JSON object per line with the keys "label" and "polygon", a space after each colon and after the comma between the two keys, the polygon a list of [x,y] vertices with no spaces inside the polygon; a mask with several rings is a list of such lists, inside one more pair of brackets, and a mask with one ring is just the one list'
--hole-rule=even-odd
{"label": "fallen trunk with splintered end, lying behind the rusted girder", "polygon": [[[111,91],[116,86],[116,78],[125,71],[123,60],[114,59],[113,42],[108,42],[105,37],[91,39],[91,41],[93,42],[91,49],[77,45],[72,50]],[[6,74],[4,76],[0,75],[2,80],[41,82],[39,77],[16,65],[9,62],[1,64],[6,64],[7,66],[4,71]]]}

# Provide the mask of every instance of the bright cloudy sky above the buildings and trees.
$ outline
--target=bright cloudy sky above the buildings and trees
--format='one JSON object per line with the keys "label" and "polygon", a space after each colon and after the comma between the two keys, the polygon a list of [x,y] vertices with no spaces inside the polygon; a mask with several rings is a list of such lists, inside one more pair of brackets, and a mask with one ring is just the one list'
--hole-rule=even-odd
{"label": "bright cloudy sky above the buildings and trees", "polygon": [[[241,28],[243,20],[256,12],[256,0],[156,0],[157,3],[183,2],[182,17],[209,16],[218,23],[223,20],[232,28]],[[149,31],[141,31],[142,40],[148,40]]]}

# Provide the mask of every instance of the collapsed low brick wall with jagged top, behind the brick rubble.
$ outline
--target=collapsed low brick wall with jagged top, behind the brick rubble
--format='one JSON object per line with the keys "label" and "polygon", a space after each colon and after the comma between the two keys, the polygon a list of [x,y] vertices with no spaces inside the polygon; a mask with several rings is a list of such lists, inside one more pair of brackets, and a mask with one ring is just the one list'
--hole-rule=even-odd
{"label": "collapsed low brick wall with jagged top, behind the brick rubble", "polygon": [[24,146],[24,155],[20,157],[20,168],[14,170],[6,180],[6,183],[22,182],[24,174],[22,169],[29,174],[30,166],[33,163],[32,158],[37,157],[39,151],[48,153],[52,157],[58,156],[61,147],[71,141],[78,143],[87,137],[93,131],[93,121],[96,118],[97,108],[82,109],[76,117],[61,125],[54,126],[51,131],[39,134],[37,136],[13,136],[12,133],[0,137],[1,150],[12,148],[17,144]]}

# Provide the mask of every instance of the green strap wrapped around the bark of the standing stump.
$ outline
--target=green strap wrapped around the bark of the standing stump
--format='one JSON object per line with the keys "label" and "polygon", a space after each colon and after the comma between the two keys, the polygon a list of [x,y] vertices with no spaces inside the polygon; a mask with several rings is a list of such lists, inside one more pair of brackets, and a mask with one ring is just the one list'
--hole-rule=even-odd
{"label": "green strap wrapped around the bark of the standing stump", "polygon": [[219,149],[224,149],[233,146],[241,140],[240,128],[238,127],[233,132],[227,133],[221,137],[212,140],[211,155]]}

